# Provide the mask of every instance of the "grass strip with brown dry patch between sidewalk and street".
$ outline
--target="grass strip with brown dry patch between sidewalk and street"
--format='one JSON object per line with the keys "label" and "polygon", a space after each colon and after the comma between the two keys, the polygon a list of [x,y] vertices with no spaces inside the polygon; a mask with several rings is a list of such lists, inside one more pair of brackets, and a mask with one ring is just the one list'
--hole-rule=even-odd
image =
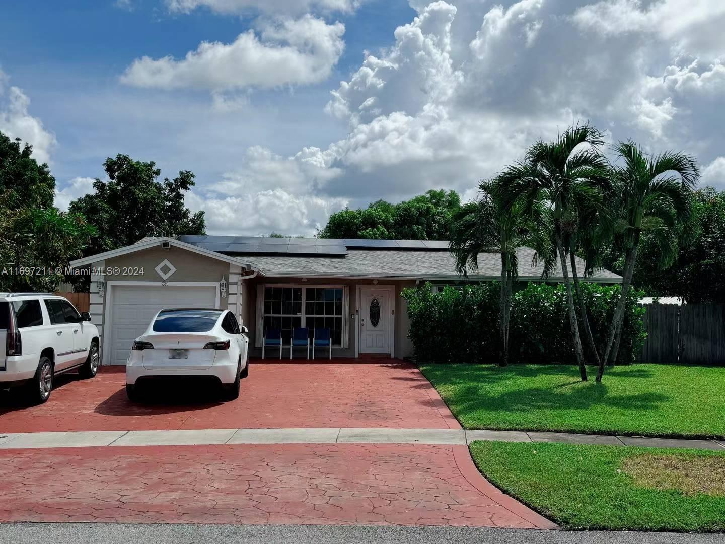
{"label": "grass strip with brown dry patch between sidewalk and street", "polygon": [[[725,530],[725,487],[708,483],[723,453],[473,442],[471,455],[494,485],[568,529]],[[693,474],[706,493],[692,487]]]}

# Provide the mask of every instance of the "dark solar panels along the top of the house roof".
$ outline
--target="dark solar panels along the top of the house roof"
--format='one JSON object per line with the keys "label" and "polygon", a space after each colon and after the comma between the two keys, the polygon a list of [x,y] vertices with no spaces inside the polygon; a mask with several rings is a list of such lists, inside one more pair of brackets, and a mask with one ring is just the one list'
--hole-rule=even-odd
{"label": "dark solar panels along the top of the house roof", "polygon": [[347,255],[355,250],[448,250],[448,242],[431,240],[356,240],[325,238],[265,238],[262,236],[179,236],[180,242],[218,253],[296,253]]}

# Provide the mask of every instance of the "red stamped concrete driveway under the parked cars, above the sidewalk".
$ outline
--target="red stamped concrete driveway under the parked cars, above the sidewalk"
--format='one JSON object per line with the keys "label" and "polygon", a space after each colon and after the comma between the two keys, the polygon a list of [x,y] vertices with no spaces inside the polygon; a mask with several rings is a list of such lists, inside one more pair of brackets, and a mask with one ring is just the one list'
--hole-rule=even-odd
{"label": "red stamped concrete driveway under the parked cars, above the sidewalk", "polygon": [[0,396],[3,432],[396,427],[460,429],[415,366],[387,359],[370,364],[252,364],[241,395],[159,386],[150,403],[130,403],[123,373],[94,379],[61,376],[49,402],[23,407]]}

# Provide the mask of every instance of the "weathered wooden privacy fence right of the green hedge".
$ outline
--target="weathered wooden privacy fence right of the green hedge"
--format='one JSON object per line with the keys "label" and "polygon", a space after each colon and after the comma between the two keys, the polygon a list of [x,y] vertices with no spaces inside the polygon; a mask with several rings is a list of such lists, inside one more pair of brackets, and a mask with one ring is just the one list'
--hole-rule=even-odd
{"label": "weathered wooden privacy fence right of the green hedge", "polygon": [[643,363],[725,365],[724,304],[645,304]]}

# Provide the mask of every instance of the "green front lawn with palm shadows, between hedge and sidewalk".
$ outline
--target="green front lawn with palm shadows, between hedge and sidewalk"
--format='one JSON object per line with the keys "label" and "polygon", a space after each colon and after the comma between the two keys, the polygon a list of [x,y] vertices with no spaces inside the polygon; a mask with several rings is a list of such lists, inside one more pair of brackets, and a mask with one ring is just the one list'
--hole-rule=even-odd
{"label": "green front lawn with palm shadows, between hedge and sidewalk", "polygon": [[602,384],[580,382],[574,366],[421,371],[467,429],[725,437],[725,368],[617,366]]}

